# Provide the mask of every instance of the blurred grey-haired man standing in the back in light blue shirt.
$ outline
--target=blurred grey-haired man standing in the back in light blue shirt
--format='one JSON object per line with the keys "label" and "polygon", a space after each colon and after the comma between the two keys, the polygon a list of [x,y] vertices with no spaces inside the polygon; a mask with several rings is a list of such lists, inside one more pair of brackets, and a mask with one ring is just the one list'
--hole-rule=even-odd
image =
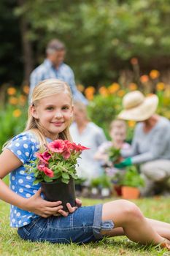
{"label": "blurred grey-haired man standing in the back in light blue shirt", "polygon": [[66,48],[63,42],[58,39],[52,39],[47,45],[46,55],[45,61],[31,73],[29,100],[34,87],[40,81],[47,78],[58,78],[69,84],[74,99],[88,104],[88,100],[77,90],[74,72],[71,67],[63,62],[66,55]]}

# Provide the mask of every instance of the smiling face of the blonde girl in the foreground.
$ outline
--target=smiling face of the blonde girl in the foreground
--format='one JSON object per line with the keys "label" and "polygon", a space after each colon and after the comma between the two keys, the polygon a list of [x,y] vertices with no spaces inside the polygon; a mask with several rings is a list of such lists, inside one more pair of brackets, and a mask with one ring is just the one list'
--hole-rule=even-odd
{"label": "smiling face of the blonde girl in the foreground", "polygon": [[55,140],[72,119],[73,107],[69,94],[62,92],[40,99],[38,105],[31,108],[31,113],[48,131],[47,137]]}

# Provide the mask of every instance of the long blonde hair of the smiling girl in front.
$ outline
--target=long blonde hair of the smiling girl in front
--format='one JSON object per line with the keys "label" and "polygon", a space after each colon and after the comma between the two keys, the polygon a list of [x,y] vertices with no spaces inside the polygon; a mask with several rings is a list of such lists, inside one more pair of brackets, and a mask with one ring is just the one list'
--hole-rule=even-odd
{"label": "long blonde hair of the smiling girl in front", "polygon": [[[69,94],[72,103],[72,93],[67,83],[55,78],[43,80],[42,82],[38,83],[32,93],[31,105],[28,108],[28,121],[26,124],[26,129],[24,131],[30,130],[36,134],[39,140],[40,148],[43,148],[43,146],[47,143],[45,134],[47,135],[48,131],[44,127],[42,127],[38,119],[34,118],[34,116],[31,115],[31,106],[36,107],[37,105],[39,105],[40,99],[50,97],[54,94],[60,94],[61,92],[66,92],[67,94]],[[62,140],[72,140],[69,133],[69,127],[66,127],[63,132],[60,132],[58,134],[58,138]]]}

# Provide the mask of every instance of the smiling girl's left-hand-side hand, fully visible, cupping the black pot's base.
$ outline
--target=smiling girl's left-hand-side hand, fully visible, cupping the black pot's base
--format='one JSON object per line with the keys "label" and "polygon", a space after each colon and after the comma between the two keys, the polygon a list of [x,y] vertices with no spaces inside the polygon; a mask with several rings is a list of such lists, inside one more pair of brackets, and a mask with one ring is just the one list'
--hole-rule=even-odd
{"label": "smiling girl's left-hand-side hand, fully visible, cupping the black pot's base", "polygon": [[26,199],[26,206],[24,210],[34,212],[43,218],[50,217],[56,213],[60,213],[63,216],[66,216],[66,211],[60,212],[63,208],[62,202],[49,202],[47,200],[42,199],[41,197],[42,190],[39,189],[35,195]]}

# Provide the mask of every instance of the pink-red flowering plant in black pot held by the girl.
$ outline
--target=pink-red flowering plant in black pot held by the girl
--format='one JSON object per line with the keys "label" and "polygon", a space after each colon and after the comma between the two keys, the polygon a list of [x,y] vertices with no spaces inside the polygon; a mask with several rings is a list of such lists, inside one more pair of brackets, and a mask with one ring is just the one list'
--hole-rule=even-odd
{"label": "pink-red flowering plant in black pot held by the girl", "polygon": [[34,173],[34,184],[41,184],[45,199],[61,200],[64,211],[68,211],[66,203],[75,206],[77,159],[85,149],[88,148],[69,140],[54,140],[45,150],[36,152],[31,165],[26,165],[26,171]]}

